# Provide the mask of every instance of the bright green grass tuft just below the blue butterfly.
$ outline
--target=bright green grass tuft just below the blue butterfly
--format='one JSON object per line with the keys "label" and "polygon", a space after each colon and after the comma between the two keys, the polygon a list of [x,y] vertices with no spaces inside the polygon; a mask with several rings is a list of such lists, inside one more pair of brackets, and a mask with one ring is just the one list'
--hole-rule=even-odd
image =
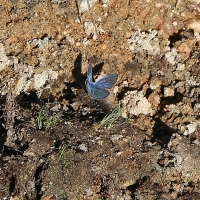
{"label": "bright green grass tuft just below the blue butterfly", "polygon": [[116,124],[115,122],[121,117],[123,108],[120,106],[120,104],[111,111],[111,113],[107,114],[102,121],[100,122],[100,126],[106,126],[108,129],[111,129],[114,126],[120,126],[124,123],[128,122],[128,118],[121,124]]}

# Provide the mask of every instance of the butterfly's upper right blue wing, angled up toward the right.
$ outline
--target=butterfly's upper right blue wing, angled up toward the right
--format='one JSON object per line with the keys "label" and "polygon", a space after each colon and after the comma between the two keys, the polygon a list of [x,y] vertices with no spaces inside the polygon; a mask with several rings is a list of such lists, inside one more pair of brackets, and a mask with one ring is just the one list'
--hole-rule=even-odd
{"label": "butterfly's upper right blue wing, angled up toward the right", "polygon": [[118,74],[110,74],[97,82],[95,82],[95,87],[110,89],[117,82]]}

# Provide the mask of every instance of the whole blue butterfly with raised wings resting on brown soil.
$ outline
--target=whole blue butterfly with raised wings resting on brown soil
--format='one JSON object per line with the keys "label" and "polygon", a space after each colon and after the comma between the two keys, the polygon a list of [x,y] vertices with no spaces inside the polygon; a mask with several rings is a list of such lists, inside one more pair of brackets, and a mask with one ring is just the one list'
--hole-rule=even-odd
{"label": "whole blue butterfly with raised wings resting on brown soil", "polygon": [[107,89],[113,87],[113,85],[117,82],[118,74],[110,74],[97,82],[92,81],[92,64],[89,63],[88,71],[87,71],[87,79],[86,79],[86,90],[88,91],[89,96],[95,99],[103,99],[106,98],[110,92]]}

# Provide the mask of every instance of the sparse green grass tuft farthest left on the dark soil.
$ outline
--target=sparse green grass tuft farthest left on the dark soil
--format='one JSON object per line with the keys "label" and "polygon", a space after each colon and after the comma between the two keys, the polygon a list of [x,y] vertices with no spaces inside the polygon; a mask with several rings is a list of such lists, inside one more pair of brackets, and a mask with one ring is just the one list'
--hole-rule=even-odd
{"label": "sparse green grass tuft farthest left on the dark soil", "polygon": [[50,114],[50,112],[41,110],[38,116],[36,117],[37,128],[39,130],[42,128],[48,129],[52,125],[57,124],[57,122],[60,121],[61,116],[62,116],[62,112]]}

